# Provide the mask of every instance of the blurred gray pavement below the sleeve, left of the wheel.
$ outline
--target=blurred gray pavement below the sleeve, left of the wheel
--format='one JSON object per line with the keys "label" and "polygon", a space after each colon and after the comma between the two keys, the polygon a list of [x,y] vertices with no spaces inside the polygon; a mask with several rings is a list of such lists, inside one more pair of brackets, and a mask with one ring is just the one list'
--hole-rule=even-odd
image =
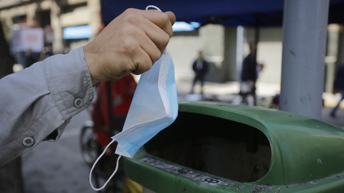
{"label": "blurred gray pavement below the sleeve, left of the wheel", "polygon": [[80,127],[89,120],[85,110],[74,116],[57,142],[41,142],[22,155],[25,193],[95,193],[90,167],[81,157]]}

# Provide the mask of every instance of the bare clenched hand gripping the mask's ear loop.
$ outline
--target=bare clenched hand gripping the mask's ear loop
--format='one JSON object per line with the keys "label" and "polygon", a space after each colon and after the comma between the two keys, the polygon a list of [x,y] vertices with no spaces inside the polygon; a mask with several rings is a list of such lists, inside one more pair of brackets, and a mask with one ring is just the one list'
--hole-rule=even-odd
{"label": "bare clenched hand gripping the mask's ear loop", "polygon": [[132,8],[112,20],[84,46],[92,84],[148,71],[169,43],[174,22],[170,11]]}

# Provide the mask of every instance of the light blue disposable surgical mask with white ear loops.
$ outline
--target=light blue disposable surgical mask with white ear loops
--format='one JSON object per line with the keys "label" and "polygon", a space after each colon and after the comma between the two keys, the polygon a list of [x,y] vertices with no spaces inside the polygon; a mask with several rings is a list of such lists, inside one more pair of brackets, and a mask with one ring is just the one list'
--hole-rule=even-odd
{"label": "light blue disposable surgical mask with white ear loops", "polygon": [[[94,163],[89,174],[92,188],[96,191],[103,189],[116,173],[119,158],[121,156],[132,158],[142,145],[172,124],[177,115],[178,100],[174,65],[172,57],[168,56],[165,50],[152,68],[141,75],[122,132],[111,137],[112,141]],[[114,141],[118,142],[115,153],[120,155],[116,169],[103,187],[95,189],[91,182],[92,171]]]}

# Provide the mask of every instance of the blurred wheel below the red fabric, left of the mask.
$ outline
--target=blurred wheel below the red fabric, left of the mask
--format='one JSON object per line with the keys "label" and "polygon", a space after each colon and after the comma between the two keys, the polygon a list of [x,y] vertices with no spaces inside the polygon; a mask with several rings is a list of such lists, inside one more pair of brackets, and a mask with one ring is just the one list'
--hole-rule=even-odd
{"label": "blurred wheel below the red fabric, left of the mask", "polygon": [[97,136],[93,131],[93,121],[86,121],[81,128],[80,135],[81,155],[85,162],[93,165],[98,157]]}

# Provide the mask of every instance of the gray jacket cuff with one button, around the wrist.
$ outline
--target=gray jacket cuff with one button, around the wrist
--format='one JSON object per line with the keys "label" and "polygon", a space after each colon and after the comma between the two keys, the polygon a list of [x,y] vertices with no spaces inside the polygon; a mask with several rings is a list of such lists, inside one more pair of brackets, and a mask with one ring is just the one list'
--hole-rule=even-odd
{"label": "gray jacket cuff with one button, around the wrist", "polygon": [[64,120],[86,109],[94,93],[84,47],[65,55],[54,55],[45,61],[45,79]]}

